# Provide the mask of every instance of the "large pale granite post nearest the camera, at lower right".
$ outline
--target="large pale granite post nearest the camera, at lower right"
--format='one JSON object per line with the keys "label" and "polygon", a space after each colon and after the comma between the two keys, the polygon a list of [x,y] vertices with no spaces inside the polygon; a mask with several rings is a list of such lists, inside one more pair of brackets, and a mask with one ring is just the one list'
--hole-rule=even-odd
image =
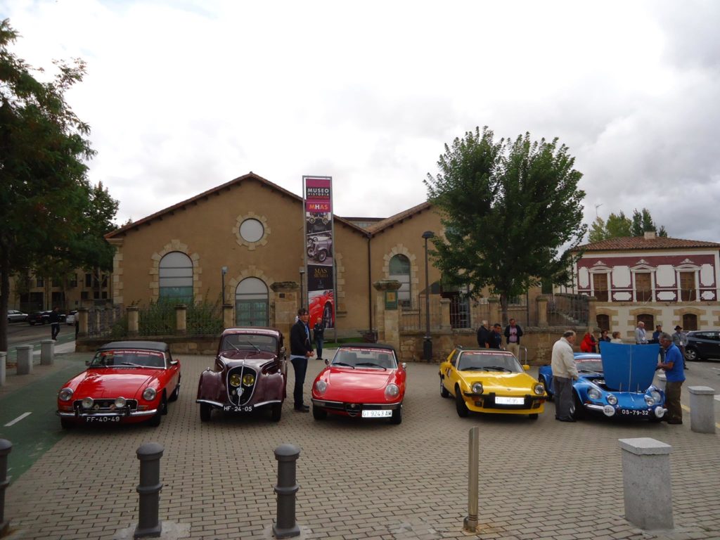
{"label": "large pale granite post nearest the camera, at lower right", "polygon": [[648,437],[621,438],[618,442],[622,449],[626,520],[649,531],[672,528],[672,446]]}

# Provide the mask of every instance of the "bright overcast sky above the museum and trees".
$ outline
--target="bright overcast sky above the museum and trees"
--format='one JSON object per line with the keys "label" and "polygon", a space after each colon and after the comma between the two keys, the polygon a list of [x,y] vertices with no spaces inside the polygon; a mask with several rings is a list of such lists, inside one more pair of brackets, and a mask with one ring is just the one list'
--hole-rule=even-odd
{"label": "bright overcast sky above the museum and trees", "polygon": [[444,144],[559,138],[585,220],[720,241],[720,2],[0,0],[34,66],[81,57],[89,177],[142,217],[253,171],[338,215],[426,200]]}

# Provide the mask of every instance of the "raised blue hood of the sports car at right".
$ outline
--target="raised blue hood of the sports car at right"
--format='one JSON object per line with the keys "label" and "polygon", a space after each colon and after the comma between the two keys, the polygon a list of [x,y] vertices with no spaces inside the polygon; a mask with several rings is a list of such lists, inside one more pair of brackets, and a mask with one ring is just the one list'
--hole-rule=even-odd
{"label": "raised blue hood of the sports car at right", "polygon": [[605,384],[618,392],[644,392],[652,384],[660,346],[602,343]]}

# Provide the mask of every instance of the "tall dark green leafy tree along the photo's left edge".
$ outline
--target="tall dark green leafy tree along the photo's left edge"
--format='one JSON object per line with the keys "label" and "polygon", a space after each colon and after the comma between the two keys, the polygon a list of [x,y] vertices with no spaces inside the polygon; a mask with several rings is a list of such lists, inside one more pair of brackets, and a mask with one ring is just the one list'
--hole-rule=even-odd
{"label": "tall dark green leafy tree along the photo's left edge", "polygon": [[[33,74],[42,69],[9,51],[15,40],[9,20],[0,22],[0,312],[8,307],[12,275],[112,268],[102,234],[117,212],[107,190],[86,177],[94,155],[90,128],[65,100],[82,81],[84,62],[55,62],[57,76],[42,82]],[[3,317],[0,351],[6,350]]]}

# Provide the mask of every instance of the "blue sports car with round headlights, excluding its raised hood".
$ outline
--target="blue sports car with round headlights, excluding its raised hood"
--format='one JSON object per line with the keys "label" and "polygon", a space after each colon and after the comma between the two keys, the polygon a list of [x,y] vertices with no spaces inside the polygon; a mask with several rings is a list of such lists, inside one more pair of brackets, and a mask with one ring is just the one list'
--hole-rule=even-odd
{"label": "blue sports car with round headlights, excluding its raised hood", "polygon": [[[575,365],[578,378],[572,383],[572,418],[578,420],[586,413],[603,413],[606,416],[660,422],[665,415],[665,392],[652,384],[647,390],[611,390],[606,384],[600,354],[575,353]],[[541,366],[538,380],[552,399],[552,367]]]}

